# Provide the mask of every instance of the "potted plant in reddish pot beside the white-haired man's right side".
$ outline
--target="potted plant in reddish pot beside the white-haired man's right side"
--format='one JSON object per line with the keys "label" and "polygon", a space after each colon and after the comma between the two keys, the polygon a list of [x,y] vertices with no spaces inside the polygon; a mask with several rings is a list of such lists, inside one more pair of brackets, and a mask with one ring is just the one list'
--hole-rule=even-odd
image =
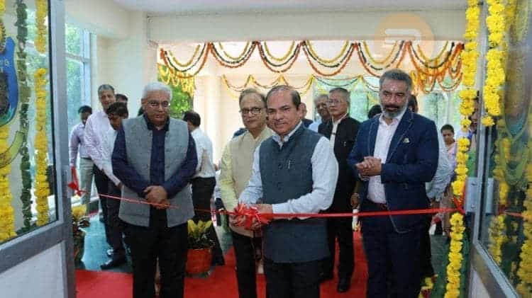
{"label": "potted plant in reddish pot beside the white-haired man's right side", "polygon": [[189,219],[189,236],[187,252],[187,273],[194,275],[199,273],[206,273],[211,268],[211,248],[213,243],[207,232],[211,227],[212,222],[199,221],[197,224]]}

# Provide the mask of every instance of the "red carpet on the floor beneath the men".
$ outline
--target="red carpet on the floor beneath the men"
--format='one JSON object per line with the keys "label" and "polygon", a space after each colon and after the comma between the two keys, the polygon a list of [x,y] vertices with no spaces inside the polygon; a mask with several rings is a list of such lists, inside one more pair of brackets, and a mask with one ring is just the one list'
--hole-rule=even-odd
{"label": "red carpet on the floor beneath the men", "polygon": [[[362,250],[360,234],[355,233],[355,273],[348,292],[338,294],[338,277],[321,284],[321,297],[365,297],[367,264]],[[338,251],[338,250],[337,250]],[[335,273],[336,275],[336,273]],[[216,266],[209,277],[186,277],[185,297],[189,298],[237,298],[235,256],[233,248],[226,253],[226,265]],[[132,275],[105,271],[76,270],[76,291],[78,298],[131,298]],[[264,275],[257,275],[257,293],[265,298]]]}

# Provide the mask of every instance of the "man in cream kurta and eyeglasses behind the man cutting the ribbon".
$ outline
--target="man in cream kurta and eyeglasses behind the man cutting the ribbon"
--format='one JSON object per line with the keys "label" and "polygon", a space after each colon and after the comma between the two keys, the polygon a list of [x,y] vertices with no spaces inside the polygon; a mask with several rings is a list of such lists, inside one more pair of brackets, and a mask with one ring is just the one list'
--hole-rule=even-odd
{"label": "man in cream kurta and eyeglasses behind the man cutting the ribbon", "polygon": [[[245,132],[234,137],[223,149],[221,159],[220,190],[226,209],[232,211],[238,203],[251,177],[253,152],[272,135],[266,127],[266,98],[255,89],[245,89],[238,98],[240,115]],[[262,237],[260,231],[249,231],[230,223],[231,238],[235,248],[238,297],[257,297],[255,260],[260,258]]]}

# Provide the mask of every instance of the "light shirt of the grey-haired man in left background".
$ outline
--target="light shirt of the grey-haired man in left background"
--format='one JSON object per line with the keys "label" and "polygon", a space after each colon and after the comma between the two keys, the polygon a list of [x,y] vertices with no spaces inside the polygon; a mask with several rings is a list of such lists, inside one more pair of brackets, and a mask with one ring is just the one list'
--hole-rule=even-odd
{"label": "light shirt of the grey-haired man in left background", "polygon": [[87,154],[91,156],[94,164],[100,169],[104,169],[101,161],[101,144],[104,134],[109,130],[109,118],[104,111],[99,111],[89,116],[85,123],[85,132],[83,134]]}

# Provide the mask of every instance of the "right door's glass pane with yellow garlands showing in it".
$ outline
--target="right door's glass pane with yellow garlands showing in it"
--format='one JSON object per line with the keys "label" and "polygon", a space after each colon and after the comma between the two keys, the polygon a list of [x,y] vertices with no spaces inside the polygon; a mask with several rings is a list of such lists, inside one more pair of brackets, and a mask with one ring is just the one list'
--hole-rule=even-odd
{"label": "right door's glass pane with yellow garlands showing in it", "polygon": [[[497,127],[487,132],[480,242],[523,297],[532,292],[532,35],[528,0],[508,32],[506,85]],[[528,212],[528,215],[527,215]],[[523,220],[528,217],[528,222]]]}

